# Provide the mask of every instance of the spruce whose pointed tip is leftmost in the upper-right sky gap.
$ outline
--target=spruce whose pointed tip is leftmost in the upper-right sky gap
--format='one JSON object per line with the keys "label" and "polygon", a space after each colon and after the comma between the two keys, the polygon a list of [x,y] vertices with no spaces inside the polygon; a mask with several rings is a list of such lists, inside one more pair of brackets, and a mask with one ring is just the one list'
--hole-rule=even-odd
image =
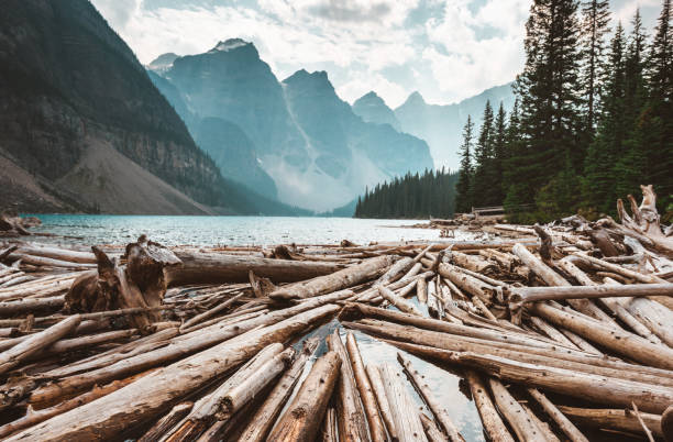
{"label": "spruce whose pointed tip is leftmost in the upper-right sky gap", "polygon": [[621,23],[610,42],[606,85],[602,97],[603,110],[598,133],[589,145],[584,168],[584,205],[602,212],[611,211],[615,194],[615,168],[627,136],[625,125],[626,40]]}

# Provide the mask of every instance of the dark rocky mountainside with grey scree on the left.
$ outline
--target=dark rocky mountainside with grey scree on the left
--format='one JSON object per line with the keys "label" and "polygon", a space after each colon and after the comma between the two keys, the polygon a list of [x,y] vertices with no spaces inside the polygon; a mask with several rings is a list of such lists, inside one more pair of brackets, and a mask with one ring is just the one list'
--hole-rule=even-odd
{"label": "dark rocky mountainside with grey scree on the left", "polygon": [[4,1],[0,162],[0,206],[22,211],[287,209],[222,178],[86,0]]}

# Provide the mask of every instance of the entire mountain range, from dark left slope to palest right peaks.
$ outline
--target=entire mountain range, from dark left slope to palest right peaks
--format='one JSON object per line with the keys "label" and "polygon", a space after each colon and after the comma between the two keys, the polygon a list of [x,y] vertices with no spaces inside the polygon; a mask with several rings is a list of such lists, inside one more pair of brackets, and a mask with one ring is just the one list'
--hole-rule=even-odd
{"label": "entire mountain range, from dark left slope to palest right peaks", "polygon": [[142,66],[88,0],[5,3],[0,207],[24,212],[329,212],[452,161],[467,112],[508,104],[503,87],[451,106],[413,93],[391,110],[374,92],[350,106],[327,73],[279,80],[240,38]]}

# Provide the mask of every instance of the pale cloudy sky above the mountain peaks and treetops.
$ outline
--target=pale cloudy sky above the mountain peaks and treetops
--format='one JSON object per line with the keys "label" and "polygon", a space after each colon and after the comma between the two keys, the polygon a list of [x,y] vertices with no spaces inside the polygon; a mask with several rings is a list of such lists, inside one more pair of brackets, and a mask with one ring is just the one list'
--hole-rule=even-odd
{"label": "pale cloudy sky above the mountain peaks and treetops", "polygon": [[[445,104],[512,81],[525,62],[531,0],[91,0],[143,64],[241,37],[279,80],[327,70],[353,102],[376,91],[400,106],[418,90]],[[640,7],[650,30],[661,0],[614,0],[627,30]],[[615,21],[616,23],[616,21]],[[614,23],[614,24],[615,24]]]}

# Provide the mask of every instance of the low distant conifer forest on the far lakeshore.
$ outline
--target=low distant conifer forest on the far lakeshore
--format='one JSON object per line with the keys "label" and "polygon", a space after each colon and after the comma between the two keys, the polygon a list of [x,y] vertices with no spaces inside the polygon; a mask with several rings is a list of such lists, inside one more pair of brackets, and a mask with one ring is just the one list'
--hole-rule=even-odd
{"label": "low distant conifer forest on the far lakeshore", "polygon": [[376,185],[357,199],[355,218],[446,218],[454,212],[455,173],[426,170]]}

